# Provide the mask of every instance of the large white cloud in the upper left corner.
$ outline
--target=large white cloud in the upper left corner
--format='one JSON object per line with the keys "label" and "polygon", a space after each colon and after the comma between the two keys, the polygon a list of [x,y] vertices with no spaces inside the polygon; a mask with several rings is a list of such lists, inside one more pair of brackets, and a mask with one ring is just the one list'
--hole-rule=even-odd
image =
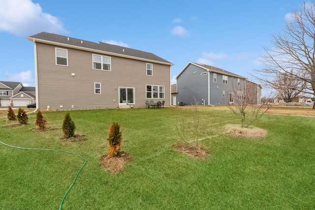
{"label": "large white cloud in the upper left corner", "polygon": [[43,12],[32,0],[0,0],[0,31],[29,36],[46,31],[67,32],[60,19]]}

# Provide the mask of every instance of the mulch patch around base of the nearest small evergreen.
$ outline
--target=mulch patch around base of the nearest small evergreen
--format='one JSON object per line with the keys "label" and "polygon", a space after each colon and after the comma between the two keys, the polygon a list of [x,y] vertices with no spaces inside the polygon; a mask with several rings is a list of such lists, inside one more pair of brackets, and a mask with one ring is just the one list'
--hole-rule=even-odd
{"label": "mulch patch around base of the nearest small evergreen", "polygon": [[100,158],[100,165],[111,174],[118,174],[119,172],[123,171],[126,163],[131,160],[130,154],[124,151],[119,152],[116,156],[109,159],[105,159],[106,156],[107,154]]}

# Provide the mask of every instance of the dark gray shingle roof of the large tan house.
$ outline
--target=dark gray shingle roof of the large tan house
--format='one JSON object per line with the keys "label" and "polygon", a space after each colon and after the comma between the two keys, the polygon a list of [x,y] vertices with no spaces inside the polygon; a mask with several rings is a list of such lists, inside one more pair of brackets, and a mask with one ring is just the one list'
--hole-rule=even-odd
{"label": "dark gray shingle roof of the large tan house", "polygon": [[37,42],[40,42],[40,40],[46,40],[46,41],[62,43],[62,44],[70,45],[70,46],[72,45],[72,46],[77,46],[77,47],[93,49],[93,50],[100,50],[100,51],[104,51],[104,53],[109,52],[109,53],[114,53],[114,54],[119,54],[119,55],[124,55],[124,56],[140,58],[140,59],[165,62],[169,65],[172,65],[171,62],[164,60],[154,55],[153,53],[148,53],[148,52],[135,50],[135,49],[127,48],[127,47],[122,47],[118,45],[107,44],[104,42],[95,43],[91,41],[86,41],[82,39],[77,39],[77,38],[72,38],[68,36],[58,35],[54,33],[47,33],[47,32],[37,33],[35,35],[28,37],[30,41],[32,40],[32,38],[37,39],[36,40]]}

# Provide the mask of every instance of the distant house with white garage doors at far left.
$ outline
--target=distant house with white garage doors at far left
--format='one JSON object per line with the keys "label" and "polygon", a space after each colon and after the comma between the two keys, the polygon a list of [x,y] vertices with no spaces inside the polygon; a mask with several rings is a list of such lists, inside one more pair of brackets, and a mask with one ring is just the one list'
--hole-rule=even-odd
{"label": "distant house with white garage doors at far left", "polygon": [[35,103],[35,87],[24,87],[20,82],[0,81],[0,107],[25,107]]}

